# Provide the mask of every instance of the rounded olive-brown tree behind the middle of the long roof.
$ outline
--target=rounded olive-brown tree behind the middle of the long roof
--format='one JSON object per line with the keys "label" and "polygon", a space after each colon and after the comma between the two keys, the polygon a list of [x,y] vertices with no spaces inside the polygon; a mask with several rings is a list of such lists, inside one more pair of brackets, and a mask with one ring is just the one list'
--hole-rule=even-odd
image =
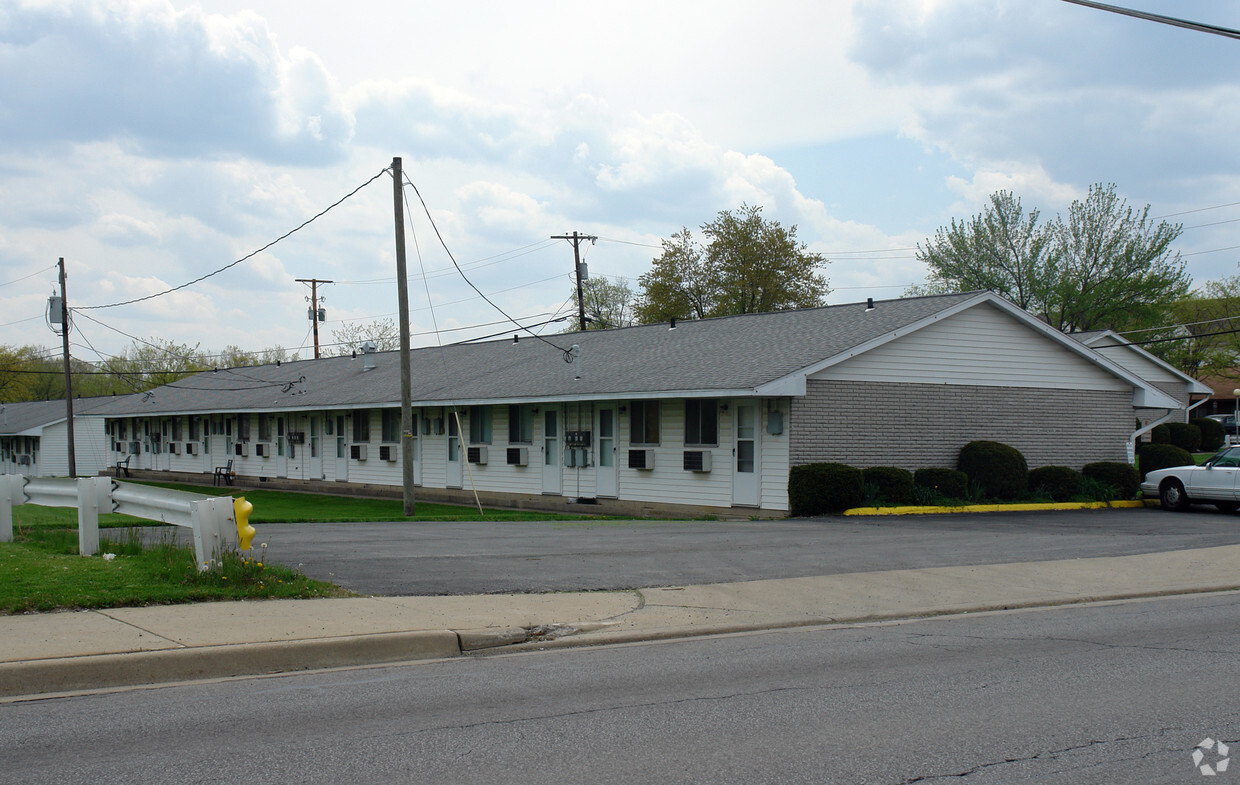
{"label": "rounded olive-brown tree behind the middle of the long roof", "polygon": [[742,205],[702,226],[707,243],[688,228],[662,242],[663,253],[639,279],[637,321],[707,319],[734,314],[813,308],[830,289],[818,268],[827,263],[784,228]]}

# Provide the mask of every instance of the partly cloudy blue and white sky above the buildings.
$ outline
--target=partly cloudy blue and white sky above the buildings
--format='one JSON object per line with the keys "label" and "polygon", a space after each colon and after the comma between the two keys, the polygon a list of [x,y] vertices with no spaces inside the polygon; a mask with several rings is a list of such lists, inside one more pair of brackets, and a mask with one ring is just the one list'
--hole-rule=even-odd
{"label": "partly cloudy blue and white sky above the buildings", "polygon": [[[1123,2],[1240,29],[1234,2]],[[1115,184],[1183,224],[1200,285],[1240,273],[1238,66],[1240,41],[1061,0],[7,0],[0,345],[60,345],[62,257],[87,361],[312,356],[299,278],[335,282],[325,345],[394,320],[396,156],[414,346],[565,315],[552,236],[636,290],[744,203],[853,303],[921,283],[916,246],[993,191],[1045,221]]]}

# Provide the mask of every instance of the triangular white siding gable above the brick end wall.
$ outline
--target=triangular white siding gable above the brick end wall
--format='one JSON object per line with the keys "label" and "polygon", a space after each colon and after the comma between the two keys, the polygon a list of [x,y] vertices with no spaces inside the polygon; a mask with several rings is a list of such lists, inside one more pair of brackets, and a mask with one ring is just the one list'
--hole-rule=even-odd
{"label": "triangular white siding gable above the brick end wall", "polygon": [[1055,389],[1131,389],[1068,347],[982,304],[810,378]]}

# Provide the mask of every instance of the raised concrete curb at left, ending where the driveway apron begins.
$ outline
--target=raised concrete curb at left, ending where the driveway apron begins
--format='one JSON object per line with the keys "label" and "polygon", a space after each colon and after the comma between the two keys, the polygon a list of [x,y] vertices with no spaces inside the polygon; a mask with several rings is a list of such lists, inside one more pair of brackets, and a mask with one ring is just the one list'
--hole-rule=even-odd
{"label": "raised concrete curb at left, ending where the driveway apron begins", "polygon": [[460,654],[456,632],[420,630],[29,660],[0,663],[0,697],[436,660]]}

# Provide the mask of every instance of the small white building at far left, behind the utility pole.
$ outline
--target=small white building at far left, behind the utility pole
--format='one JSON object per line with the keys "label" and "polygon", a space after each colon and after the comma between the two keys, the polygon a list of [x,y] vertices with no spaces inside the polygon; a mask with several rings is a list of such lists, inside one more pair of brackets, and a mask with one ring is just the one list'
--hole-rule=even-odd
{"label": "small white building at far left, behind the utility pole", "polygon": [[[105,402],[112,398],[73,401],[73,456],[78,475],[99,474],[112,456],[103,418],[93,414]],[[67,476],[68,444],[63,398],[0,403],[0,474]]]}

